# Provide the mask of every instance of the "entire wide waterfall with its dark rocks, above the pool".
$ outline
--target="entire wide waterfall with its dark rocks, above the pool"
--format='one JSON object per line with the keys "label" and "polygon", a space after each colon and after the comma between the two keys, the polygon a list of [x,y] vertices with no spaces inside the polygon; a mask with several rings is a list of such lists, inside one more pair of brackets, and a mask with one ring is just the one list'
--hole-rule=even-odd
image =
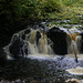
{"label": "entire wide waterfall with its dark rocks, above the pool", "polygon": [[9,45],[4,46],[7,56],[18,58],[29,54],[77,54],[82,48],[82,35],[65,32],[64,29],[52,28],[25,29],[12,35]]}

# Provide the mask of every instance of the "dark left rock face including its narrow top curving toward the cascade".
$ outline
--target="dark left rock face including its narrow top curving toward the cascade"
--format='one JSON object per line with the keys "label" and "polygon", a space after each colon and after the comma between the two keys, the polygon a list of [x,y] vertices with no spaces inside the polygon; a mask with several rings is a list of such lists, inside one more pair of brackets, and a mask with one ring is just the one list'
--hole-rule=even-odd
{"label": "dark left rock face including its narrow top curving toward the cascade", "polygon": [[24,41],[24,39],[25,34],[30,32],[30,30],[25,30],[23,32],[15,33],[12,37],[11,43],[9,44],[9,51],[13,58],[28,55],[28,43]]}

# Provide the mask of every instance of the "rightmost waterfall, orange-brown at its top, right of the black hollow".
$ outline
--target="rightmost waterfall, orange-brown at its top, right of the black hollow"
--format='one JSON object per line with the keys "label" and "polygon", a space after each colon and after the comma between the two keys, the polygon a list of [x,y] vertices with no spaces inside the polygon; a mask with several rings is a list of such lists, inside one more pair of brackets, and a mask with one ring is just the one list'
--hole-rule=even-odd
{"label": "rightmost waterfall, orange-brown at its top, right of the black hollow", "polygon": [[69,54],[74,53],[73,48],[74,48],[76,54],[80,53],[81,41],[82,41],[82,37],[81,35],[68,33],[68,37],[66,37],[68,53]]}

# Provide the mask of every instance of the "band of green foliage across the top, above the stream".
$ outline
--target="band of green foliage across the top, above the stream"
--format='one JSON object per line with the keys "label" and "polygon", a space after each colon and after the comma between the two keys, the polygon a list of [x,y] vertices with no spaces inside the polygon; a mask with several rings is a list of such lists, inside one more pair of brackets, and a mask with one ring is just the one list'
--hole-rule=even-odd
{"label": "band of green foliage across the top, above the stream", "polygon": [[[0,0],[0,19],[3,21],[21,21],[27,19],[60,19],[68,11],[68,7],[83,7],[82,0]],[[64,11],[63,11],[64,10]],[[66,10],[66,12],[65,12]],[[70,12],[70,13],[69,13]],[[74,12],[75,14],[75,12]],[[64,15],[64,17],[65,17]],[[70,15],[71,17],[71,15]]]}

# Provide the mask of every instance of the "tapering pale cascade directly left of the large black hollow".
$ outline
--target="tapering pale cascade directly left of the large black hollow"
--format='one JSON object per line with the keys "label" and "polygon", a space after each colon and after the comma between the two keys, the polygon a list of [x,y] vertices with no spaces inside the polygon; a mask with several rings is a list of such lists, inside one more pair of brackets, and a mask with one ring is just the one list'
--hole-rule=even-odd
{"label": "tapering pale cascade directly left of the large black hollow", "polygon": [[41,38],[38,43],[39,53],[53,54],[53,51],[52,51],[50,44],[48,43],[48,41],[49,40],[48,40],[46,34],[41,33]]}

